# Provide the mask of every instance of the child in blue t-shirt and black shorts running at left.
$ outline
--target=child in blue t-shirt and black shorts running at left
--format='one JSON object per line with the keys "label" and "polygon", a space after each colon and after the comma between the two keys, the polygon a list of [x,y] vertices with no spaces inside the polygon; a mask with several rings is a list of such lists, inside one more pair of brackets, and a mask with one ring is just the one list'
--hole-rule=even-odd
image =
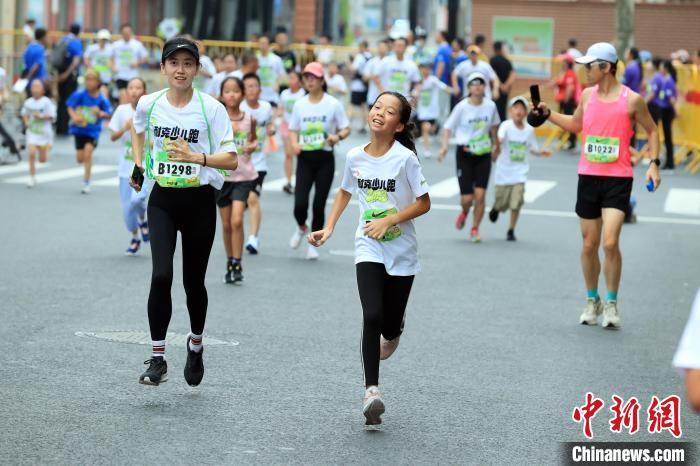
{"label": "child in blue t-shirt and black shorts running at left", "polygon": [[76,158],[85,167],[81,192],[90,192],[92,153],[102,132],[102,120],[110,117],[112,104],[100,92],[100,75],[93,69],[85,72],[85,89],[75,91],[66,101],[71,119],[70,134],[75,136]]}

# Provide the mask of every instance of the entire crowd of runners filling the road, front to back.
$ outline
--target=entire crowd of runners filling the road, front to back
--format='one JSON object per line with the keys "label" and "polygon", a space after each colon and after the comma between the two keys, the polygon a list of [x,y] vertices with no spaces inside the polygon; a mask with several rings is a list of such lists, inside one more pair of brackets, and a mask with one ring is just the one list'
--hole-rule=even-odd
{"label": "entire crowd of runners filling the road, front to back", "polygon": [[[97,42],[84,51],[79,33],[74,27],[54,46],[64,57],[63,63],[53,63],[59,71],[57,104],[47,96],[47,65],[41,60],[46,55],[45,30],[33,31],[25,53],[27,98],[21,116],[28,187],[36,187],[37,154],[39,163],[46,162],[55,132],[74,138],[76,159],[84,166],[84,194],[90,193],[101,132],[107,128],[111,140],[121,145],[119,195],[130,235],[126,254],[138,254],[142,243],[149,242],[153,261],[147,306],[153,348],[139,378],[142,384],[159,385],[168,379],[165,336],[172,313],[178,231],[191,322],[184,377],[192,386],[201,382],[208,306],[204,278],[217,207],[226,252],[223,281],[240,285],[244,252],[264,250],[261,194],[269,171],[267,158],[277,151],[285,155],[282,189],[294,196],[289,247],[305,243],[307,259],[319,259],[317,248],[333,235],[351,197],[357,196],[355,263],[363,308],[362,409],[367,424],[381,422],[385,408],[378,389],[380,360],[389,358],[399,344],[409,293],[420,269],[413,219],[430,210],[430,195],[419,156],[435,154],[443,161],[453,146],[461,195],[455,225],[461,230],[471,219],[469,237],[475,243],[481,241],[479,228],[493,170],[495,202],[488,217],[496,222],[509,212],[506,238],[516,241],[528,159],[552,155],[538,145],[528,122],[549,120],[574,135],[571,147],[580,133],[576,213],[586,296],[579,322],[596,325],[602,316],[603,327],[621,326],[619,238],[632,192],[635,125],[648,138],[649,167],[643,182],[653,191],[661,183],[655,122],[661,120],[666,131],[667,109],[677,102],[672,72],[665,64],[650,80],[651,95],[640,93],[642,63],[636,49],[629,52],[623,83],[616,77],[622,61],[612,45],[593,44],[582,54],[572,44],[559,57],[562,76],[552,83],[558,89],[557,112],[528,96],[510,95],[515,73],[503,44],[494,44],[489,59],[483,40],[465,44],[446,33],[436,35],[434,49],[425,35],[380,40],[374,52],[362,42],[350,63],[336,63],[332,49],[319,49],[313,58],[297,57],[283,32],[274,38],[274,48],[273,39],[260,36],[254,50],[215,58],[206,56],[192,38],[181,36],[160,51],[160,70],[167,80],[163,89],[147,89],[139,76],[148,53],[129,25],[121,28],[122,39],[116,42],[108,31],[99,31]],[[574,67],[583,70],[583,83],[568,73]],[[351,132],[366,142],[342,154],[341,187],[326,217],[336,168],[334,148]],[[2,134],[18,152],[11,135],[4,130]],[[672,168],[670,131],[666,134],[665,163]],[[604,264],[598,255],[601,246]],[[604,299],[598,291],[601,269]]]}

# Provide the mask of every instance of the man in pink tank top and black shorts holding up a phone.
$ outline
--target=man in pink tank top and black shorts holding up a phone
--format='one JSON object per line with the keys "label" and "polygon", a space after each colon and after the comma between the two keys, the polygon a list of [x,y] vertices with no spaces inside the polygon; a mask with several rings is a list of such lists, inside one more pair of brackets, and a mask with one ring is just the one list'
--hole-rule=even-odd
{"label": "man in pink tank top and black shorts holding up a phone", "polygon": [[[649,137],[651,153],[646,183],[653,181],[656,190],[661,183],[659,134],[644,99],[617,81],[615,47],[604,42],[593,44],[576,61],[586,67],[589,87],[583,91],[574,115],[553,112],[544,103],[539,104],[538,111],[565,131],[582,133],[576,214],[581,219],[581,267],[588,297],[579,322],[596,325],[598,316],[603,314],[603,327],[619,328],[619,241],[634,178],[629,145],[634,125],[639,123]],[[601,237],[605,251],[605,305],[598,295]]]}

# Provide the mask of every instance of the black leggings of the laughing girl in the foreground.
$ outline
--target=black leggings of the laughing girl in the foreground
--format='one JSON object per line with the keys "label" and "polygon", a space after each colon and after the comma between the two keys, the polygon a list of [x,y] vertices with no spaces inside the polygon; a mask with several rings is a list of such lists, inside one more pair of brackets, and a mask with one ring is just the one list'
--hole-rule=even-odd
{"label": "black leggings of the laughing girl in the foreground", "polygon": [[362,366],[369,387],[379,385],[379,335],[393,340],[403,332],[413,275],[389,275],[377,262],[360,262],[355,270],[362,303]]}

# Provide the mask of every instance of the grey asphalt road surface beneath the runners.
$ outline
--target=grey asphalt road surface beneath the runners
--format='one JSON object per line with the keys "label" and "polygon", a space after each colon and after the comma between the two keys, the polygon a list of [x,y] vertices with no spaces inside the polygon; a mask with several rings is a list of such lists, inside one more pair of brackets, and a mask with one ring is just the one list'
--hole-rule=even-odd
{"label": "grey asphalt road surface beneath the runners", "polygon": [[[334,186],[344,154],[362,142],[355,134],[341,143]],[[287,245],[293,199],[281,191],[282,156],[271,155],[261,251],[245,255],[243,286],[222,283],[217,231],[201,386],[182,378],[189,325],[178,250],[170,380],[147,387],[138,376],[150,355],[150,251],[123,254],[117,157],[103,134],[89,195],[79,192],[69,139],[57,141],[34,189],[23,166],[0,166],[3,463],[556,464],[560,442],[584,440],[571,413],[586,392],[606,402],[595,440],[674,440],[647,433],[645,416],[653,395],[685,400],[671,359],[700,282],[700,205],[694,214],[683,194],[700,189],[698,176],[677,170],[649,194],[637,168],[639,222],[622,232],[622,329],[610,331],[578,324],[575,153],[531,160],[515,243],[505,241],[507,215],[485,219],[481,244],[455,230],[453,154],[442,164],[422,158],[435,188],[433,209],[417,221],[423,270],[401,345],[381,365],[384,423],[368,430],[357,207],[320,260],[304,260],[303,248]],[[613,394],[640,399],[634,436],[610,432]],[[681,419],[682,440],[700,438],[700,416],[685,402]]]}

